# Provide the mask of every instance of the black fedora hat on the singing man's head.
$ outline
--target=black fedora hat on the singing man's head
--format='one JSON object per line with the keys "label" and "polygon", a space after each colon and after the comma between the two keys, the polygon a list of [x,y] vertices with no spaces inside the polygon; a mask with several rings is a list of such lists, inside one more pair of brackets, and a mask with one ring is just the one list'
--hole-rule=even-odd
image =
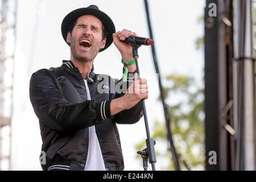
{"label": "black fedora hat on the singing man's head", "polygon": [[[108,35],[106,37],[106,44],[105,47],[100,49],[99,52],[104,51],[106,48],[108,48],[113,43],[113,36],[112,34],[115,32],[115,26],[112,21],[112,19],[105,14],[104,12],[100,11],[96,5],[90,5],[88,7],[82,7],[80,9],[76,9],[74,11],[71,11],[62,21],[61,24],[61,33],[63,36],[63,39],[67,43],[67,35],[68,35],[68,27],[77,20],[82,15],[93,15],[96,16],[98,19],[101,20],[102,24],[105,27],[105,30],[108,32]],[[68,43],[67,43],[68,44]]]}

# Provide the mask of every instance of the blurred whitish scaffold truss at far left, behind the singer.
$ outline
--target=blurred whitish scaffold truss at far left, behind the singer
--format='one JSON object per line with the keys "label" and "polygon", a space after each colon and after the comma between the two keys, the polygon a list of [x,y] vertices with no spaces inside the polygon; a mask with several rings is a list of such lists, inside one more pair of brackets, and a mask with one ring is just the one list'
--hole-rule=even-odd
{"label": "blurred whitish scaffold truss at far left, behind the singer", "polygon": [[[18,6],[17,0],[2,0],[0,1],[1,4],[1,20],[0,20],[0,26],[1,26],[1,40],[0,40],[0,170],[2,167],[3,160],[8,161],[8,169],[11,169],[11,146],[12,146],[12,128],[11,128],[11,118],[13,117],[13,94],[14,94],[14,68],[15,68],[15,62],[14,62],[14,55],[15,55],[15,43],[16,43],[16,10]],[[11,18],[9,16],[13,14],[14,16],[14,22],[11,22]],[[14,47],[13,51],[9,54],[6,54],[6,44],[10,42],[7,37],[6,32],[7,31],[13,31],[13,36],[10,37],[10,40],[13,40]],[[7,61],[11,62],[13,64],[13,67],[6,67]],[[8,71],[11,70],[11,74],[7,75],[9,73]],[[11,77],[11,84],[9,87],[6,86],[4,82],[5,77]],[[10,98],[4,98],[3,96],[5,93],[10,93]],[[4,107],[6,102],[10,103],[10,107]],[[8,103],[8,104],[9,104]],[[5,106],[7,106],[6,104]],[[4,110],[10,109],[10,114],[8,116],[4,115]],[[9,136],[3,137],[1,135],[1,130],[9,129]],[[3,140],[9,140],[9,152],[8,155],[3,156],[2,154],[2,148],[3,148]]]}

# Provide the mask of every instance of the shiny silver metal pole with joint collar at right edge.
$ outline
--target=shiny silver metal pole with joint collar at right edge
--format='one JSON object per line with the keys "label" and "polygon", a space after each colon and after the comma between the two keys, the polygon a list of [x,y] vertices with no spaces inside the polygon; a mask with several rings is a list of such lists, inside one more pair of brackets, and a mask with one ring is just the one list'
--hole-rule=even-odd
{"label": "shiny silver metal pole with joint collar at right edge", "polygon": [[234,70],[234,126],[236,170],[255,169],[255,97],[251,0],[236,1],[236,48]]}

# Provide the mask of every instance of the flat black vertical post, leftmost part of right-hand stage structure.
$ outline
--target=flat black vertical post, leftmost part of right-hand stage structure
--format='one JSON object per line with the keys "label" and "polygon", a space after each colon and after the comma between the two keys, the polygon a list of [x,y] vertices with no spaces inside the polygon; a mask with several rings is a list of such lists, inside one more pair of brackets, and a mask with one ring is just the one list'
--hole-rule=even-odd
{"label": "flat black vertical post, leftmost part of right-hand stage structure", "polygon": [[[220,127],[218,92],[218,16],[209,16],[210,3],[218,7],[217,0],[207,0],[205,8],[205,168],[220,170]],[[209,152],[217,154],[217,164],[209,163]]]}

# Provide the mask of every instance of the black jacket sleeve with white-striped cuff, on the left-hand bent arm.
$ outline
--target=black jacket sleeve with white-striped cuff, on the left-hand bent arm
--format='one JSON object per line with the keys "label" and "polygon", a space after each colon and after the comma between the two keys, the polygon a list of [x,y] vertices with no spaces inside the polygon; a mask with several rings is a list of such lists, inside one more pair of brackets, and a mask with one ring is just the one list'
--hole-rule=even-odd
{"label": "black jacket sleeve with white-striped cuff, on the left-hand bent arm", "polygon": [[47,69],[33,73],[30,101],[39,121],[57,131],[75,131],[111,118],[109,101],[68,102]]}

